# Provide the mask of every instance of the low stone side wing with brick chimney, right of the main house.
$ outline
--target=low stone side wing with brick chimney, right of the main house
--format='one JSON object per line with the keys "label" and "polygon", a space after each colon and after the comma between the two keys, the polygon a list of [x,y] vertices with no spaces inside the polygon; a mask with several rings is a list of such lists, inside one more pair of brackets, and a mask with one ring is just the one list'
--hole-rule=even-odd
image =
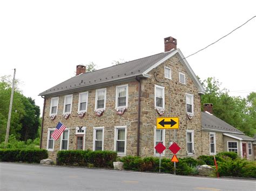
{"label": "low stone side wing with brick chimney, right of the main house", "polygon": [[236,152],[239,157],[254,160],[254,138],[246,136],[243,132],[234,128],[213,115],[213,104],[204,104],[204,112],[201,112],[202,153],[205,155],[216,154],[221,151]]}

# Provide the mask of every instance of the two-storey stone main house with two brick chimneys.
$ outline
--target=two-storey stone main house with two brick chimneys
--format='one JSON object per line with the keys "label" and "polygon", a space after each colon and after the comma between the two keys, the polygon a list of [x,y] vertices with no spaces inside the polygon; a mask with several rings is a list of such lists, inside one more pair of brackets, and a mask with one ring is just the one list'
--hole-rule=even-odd
{"label": "two-storey stone main house with two brick chimneys", "polygon": [[[41,148],[55,159],[59,150],[113,150],[118,155],[158,156],[154,146],[176,142],[178,157],[202,153],[200,94],[204,88],[177,40],[165,52],[87,72],[43,91]],[[157,117],[179,117],[179,129],[156,129]],[[55,141],[58,122],[66,129]],[[163,153],[171,155],[169,150]]]}

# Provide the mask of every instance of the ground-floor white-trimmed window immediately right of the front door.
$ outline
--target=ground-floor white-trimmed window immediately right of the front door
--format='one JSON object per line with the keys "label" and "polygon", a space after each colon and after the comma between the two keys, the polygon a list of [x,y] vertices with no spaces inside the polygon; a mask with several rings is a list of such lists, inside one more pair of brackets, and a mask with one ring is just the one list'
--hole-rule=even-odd
{"label": "ground-floor white-trimmed window immediately right of the front door", "polygon": [[93,151],[104,151],[104,127],[93,128]]}

